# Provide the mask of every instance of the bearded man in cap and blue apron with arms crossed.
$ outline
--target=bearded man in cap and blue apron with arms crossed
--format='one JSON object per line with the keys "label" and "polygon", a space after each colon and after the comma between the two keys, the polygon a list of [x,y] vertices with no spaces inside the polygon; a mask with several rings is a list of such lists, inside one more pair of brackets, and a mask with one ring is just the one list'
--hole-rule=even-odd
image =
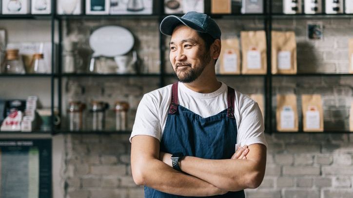
{"label": "bearded man in cap and blue apron with arms crossed", "polygon": [[[168,16],[179,82],[143,96],[130,137],[133,179],[145,198],[243,198],[266,164],[263,118],[253,100],[218,82],[221,32],[205,14]],[[236,153],[235,144],[243,147]],[[248,146],[246,146],[248,145]]]}

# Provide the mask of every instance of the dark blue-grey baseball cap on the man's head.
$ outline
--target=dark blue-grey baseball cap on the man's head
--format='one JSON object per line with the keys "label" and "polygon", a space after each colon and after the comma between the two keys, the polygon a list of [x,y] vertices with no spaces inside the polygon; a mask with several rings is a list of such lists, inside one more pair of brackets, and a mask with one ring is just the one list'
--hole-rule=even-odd
{"label": "dark blue-grey baseball cap on the man's head", "polygon": [[177,25],[184,24],[197,32],[208,33],[214,39],[220,39],[221,31],[214,19],[210,16],[198,12],[188,12],[182,17],[174,15],[168,16],[162,20],[159,29],[163,35],[172,36]]}

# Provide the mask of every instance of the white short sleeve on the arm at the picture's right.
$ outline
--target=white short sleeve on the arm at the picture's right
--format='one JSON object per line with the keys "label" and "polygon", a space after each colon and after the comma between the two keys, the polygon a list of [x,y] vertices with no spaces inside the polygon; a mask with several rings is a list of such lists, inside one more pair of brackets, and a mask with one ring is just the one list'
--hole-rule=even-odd
{"label": "white short sleeve on the arm at the picture's right", "polygon": [[252,103],[240,114],[237,144],[263,144],[267,147],[262,113],[257,103]]}

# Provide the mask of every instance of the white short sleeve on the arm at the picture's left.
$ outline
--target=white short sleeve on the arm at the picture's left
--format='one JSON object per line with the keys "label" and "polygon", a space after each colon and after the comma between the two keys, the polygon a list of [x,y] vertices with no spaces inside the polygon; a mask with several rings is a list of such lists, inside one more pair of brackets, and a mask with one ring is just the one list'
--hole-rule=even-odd
{"label": "white short sleeve on the arm at the picture's left", "polygon": [[161,128],[156,100],[145,94],[137,107],[135,123],[129,141],[136,135],[149,135],[160,141]]}

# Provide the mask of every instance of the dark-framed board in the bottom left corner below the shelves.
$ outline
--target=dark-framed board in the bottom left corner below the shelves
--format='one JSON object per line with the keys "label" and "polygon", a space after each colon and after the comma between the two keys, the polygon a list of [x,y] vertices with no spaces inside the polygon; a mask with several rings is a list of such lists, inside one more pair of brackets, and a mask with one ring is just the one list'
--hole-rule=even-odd
{"label": "dark-framed board in the bottom left corner below the shelves", "polygon": [[0,198],[51,198],[52,140],[0,140]]}

